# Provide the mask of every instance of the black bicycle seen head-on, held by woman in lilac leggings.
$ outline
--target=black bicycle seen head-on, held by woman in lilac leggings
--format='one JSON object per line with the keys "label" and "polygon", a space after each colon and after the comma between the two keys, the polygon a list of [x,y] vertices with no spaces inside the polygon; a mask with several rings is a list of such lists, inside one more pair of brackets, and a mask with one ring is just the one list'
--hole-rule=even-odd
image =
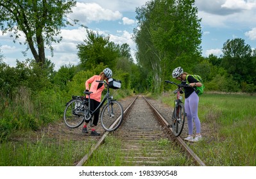
{"label": "black bicycle seen head-on, held by woman in lilac leggings", "polygon": [[176,94],[176,100],[175,100],[175,108],[173,110],[173,116],[171,118],[171,127],[173,128],[173,134],[178,137],[180,134],[182,134],[182,130],[185,123],[185,107],[182,102],[182,96],[180,94],[183,93],[182,88],[188,87],[188,84],[176,84],[172,81],[166,81],[167,83],[175,84],[178,86],[178,89],[174,91]]}

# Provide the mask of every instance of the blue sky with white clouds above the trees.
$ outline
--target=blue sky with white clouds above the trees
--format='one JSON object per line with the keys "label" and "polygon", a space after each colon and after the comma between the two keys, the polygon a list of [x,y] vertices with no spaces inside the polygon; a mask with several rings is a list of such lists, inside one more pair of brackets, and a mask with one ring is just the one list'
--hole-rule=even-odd
{"label": "blue sky with white clouds above the trees", "polygon": [[[137,25],[135,8],[145,3],[146,0],[78,0],[70,17],[101,35],[110,35],[110,40],[115,43],[128,43],[134,54],[136,49],[131,37]],[[246,44],[256,47],[256,0],[196,0],[195,6],[198,17],[202,19],[203,56],[221,55],[223,43],[233,38],[243,38]],[[78,63],[76,45],[83,43],[86,31],[75,26],[63,29],[61,35],[62,42],[53,44],[54,56],[51,57],[48,50],[46,52],[47,58],[55,63],[56,70],[62,65]],[[24,42],[24,37],[20,42]],[[23,56],[26,46],[13,43],[10,35],[0,33],[0,48],[4,62],[10,66],[15,66],[16,59],[32,58],[30,51],[26,57]]]}

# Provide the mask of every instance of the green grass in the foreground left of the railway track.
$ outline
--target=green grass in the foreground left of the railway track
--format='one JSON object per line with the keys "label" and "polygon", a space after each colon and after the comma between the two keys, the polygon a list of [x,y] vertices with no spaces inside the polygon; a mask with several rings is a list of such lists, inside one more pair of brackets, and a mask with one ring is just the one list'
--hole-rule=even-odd
{"label": "green grass in the foreground left of the railway track", "polygon": [[44,136],[35,141],[4,142],[0,144],[0,166],[74,166],[92,144]]}

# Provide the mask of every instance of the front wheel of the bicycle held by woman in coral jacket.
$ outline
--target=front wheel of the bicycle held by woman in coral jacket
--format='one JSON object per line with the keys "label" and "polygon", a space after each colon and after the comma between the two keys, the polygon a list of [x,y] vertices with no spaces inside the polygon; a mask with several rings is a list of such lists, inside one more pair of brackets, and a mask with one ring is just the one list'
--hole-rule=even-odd
{"label": "front wheel of the bicycle held by woman in coral jacket", "polygon": [[107,131],[114,131],[121,125],[123,116],[123,106],[117,101],[111,101],[101,111],[101,125]]}

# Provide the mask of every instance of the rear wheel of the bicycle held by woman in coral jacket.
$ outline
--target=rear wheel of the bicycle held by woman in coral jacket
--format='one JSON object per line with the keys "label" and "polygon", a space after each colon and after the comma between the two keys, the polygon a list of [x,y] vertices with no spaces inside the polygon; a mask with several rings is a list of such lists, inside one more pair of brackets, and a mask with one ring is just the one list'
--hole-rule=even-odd
{"label": "rear wheel of the bicycle held by woman in coral jacket", "polygon": [[67,127],[79,127],[83,123],[84,117],[85,107],[80,98],[73,99],[66,105],[64,111],[64,121]]}

